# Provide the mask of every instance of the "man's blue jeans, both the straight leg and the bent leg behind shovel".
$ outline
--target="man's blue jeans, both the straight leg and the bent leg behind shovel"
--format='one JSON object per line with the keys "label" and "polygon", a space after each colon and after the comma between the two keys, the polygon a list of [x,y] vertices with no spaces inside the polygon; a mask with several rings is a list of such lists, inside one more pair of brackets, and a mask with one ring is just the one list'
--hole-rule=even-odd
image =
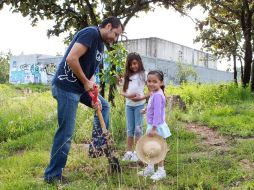
{"label": "man's blue jeans, both the straight leg and the bent leg behind shovel", "polygon": [[[78,103],[81,102],[89,107],[92,107],[91,98],[89,97],[88,93],[84,93],[81,96],[81,94],[67,92],[54,85],[52,86],[52,95],[57,100],[59,127],[53,140],[50,163],[44,173],[44,178],[48,181],[61,176],[62,170],[66,165],[71,145],[71,139],[75,128]],[[106,124],[106,128],[108,129],[110,107],[108,102],[101,95],[99,95],[98,98],[102,104],[102,115]],[[95,135],[94,131],[99,131],[100,134],[102,133],[99,119],[96,114],[94,115],[92,138],[97,139],[94,142],[96,147],[100,147],[105,144],[105,138],[99,135]]]}

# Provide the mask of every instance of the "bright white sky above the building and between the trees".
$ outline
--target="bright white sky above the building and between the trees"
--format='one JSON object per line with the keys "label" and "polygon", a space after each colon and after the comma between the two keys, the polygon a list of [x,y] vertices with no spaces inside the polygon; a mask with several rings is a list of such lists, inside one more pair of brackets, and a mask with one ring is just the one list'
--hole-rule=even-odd
{"label": "bright white sky above the building and between the trees", "polygon": [[[156,8],[154,12],[140,13],[138,18],[132,18],[126,26],[128,39],[158,37],[197,50],[201,44],[193,43],[197,32],[195,24],[188,18],[181,16],[173,9]],[[191,12],[193,18],[203,17],[200,9]],[[40,21],[36,27],[31,26],[28,17],[19,13],[11,13],[4,7],[0,11],[0,52],[8,50],[13,55],[23,54],[64,54],[66,46],[64,37],[47,37],[47,30],[53,25],[50,21]],[[218,68],[221,69],[218,65]],[[222,69],[223,70],[223,69]]]}

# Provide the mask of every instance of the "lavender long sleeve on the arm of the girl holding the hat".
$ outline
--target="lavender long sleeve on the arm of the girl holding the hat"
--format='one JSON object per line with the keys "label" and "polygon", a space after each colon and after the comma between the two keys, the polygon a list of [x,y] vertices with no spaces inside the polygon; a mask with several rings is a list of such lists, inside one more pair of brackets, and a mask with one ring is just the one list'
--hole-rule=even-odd
{"label": "lavender long sleeve on the arm of the girl holding the hat", "polygon": [[153,112],[153,126],[157,126],[163,123],[163,113],[162,113],[162,96],[160,94],[155,94],[153,97],[153,105],[154,105],[154,112]]}

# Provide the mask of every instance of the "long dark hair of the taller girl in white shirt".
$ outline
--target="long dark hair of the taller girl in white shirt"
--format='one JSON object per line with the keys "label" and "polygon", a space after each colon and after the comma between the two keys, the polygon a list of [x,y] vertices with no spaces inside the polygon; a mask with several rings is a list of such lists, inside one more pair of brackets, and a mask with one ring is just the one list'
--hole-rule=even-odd
{"label": "long dark hair of the taller girl in white shirt", "polygon": [[129,53],[127,56],[126,64],[125,64],[124,83],[123,83],[123,91],[124,92],[126,92],[126,90],[128,89],[130,77],[134,74],[133,71],[130,69],[131,62],[133,60],[137,60],[137,62],[139,63],[137,72],[143,71],[143,73],[145,74],[145,69],[144,69],[143,62],[142,62],[140,55],[135,52]]}

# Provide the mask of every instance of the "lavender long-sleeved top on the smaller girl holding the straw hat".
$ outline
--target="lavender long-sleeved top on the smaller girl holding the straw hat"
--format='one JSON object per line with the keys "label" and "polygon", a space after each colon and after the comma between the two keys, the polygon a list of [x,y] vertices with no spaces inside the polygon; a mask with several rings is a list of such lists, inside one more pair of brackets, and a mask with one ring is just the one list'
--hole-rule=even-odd
{"label": "lavender long-sleeved top on the smaller girl holding the straw hat", "polygon": [[148,124],[157,126],[165,122],[165,105],[166,98],[161,89],[150,95],[146,112]]}

